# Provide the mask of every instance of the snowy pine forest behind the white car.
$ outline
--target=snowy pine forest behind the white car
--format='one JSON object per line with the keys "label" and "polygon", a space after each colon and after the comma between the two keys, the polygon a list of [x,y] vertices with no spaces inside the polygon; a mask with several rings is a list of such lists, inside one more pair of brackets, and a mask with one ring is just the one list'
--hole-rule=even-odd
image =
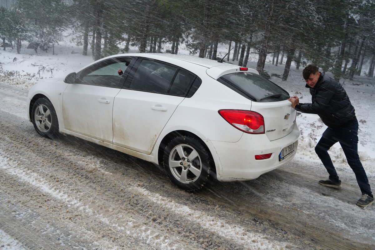
{"label": "snowy pine forest behind the white car", "polygon": [[[93,60],[124,53],[171,54],[186,44],[190,54],[216,60],[225,43],[229,63],[246,66],[250,49],[259,54],[257,70],[267,77],[267,54],[273,64],[308,62],[336,79],[361,72],[373,77],[375,66],[374,0],[15,0],[0,2],[2,48],[28,42],[35,52],[54,49],[62,32],[71,30],[83,55]],[[362,71],[363,65],[368,70]]]}

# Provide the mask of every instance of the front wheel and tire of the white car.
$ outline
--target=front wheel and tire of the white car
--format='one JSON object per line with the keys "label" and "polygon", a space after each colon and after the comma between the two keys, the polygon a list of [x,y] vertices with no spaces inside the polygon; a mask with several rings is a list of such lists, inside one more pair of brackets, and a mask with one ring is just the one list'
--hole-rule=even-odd
{"label": "front wheel and tire of the white car", "polygon": [[34,102],[31,121],[39,135],[45,138],[55,138],[58,135],[56,111],[48,99],[43,97]]}

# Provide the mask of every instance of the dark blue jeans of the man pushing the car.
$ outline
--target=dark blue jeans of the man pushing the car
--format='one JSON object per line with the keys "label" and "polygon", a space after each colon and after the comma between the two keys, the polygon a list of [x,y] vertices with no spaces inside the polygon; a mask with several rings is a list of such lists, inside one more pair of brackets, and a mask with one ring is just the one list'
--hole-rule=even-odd
{"label": "dark blue jeans of the man pushing the car", "polygon": [[362,195],[368,194],[372,196],[369,180],[367,178],[365,169],[363,169],[362,163],[359,160],[358,121],[356,118],[354,118],[353,121],[344,124],[342,127],[328,127],[315,147],[315,152],[317,152],[317,155],[321,159],[323,165],[326,167],[329,174],[329,179],[332,181],[339,181],[339,176],[336,173],[336,169],[333,166],[331,157],[327,151],[336,142],[340,142],[342,150],[347,157],[348,164],[356,175],[357,183],[361,189]]}

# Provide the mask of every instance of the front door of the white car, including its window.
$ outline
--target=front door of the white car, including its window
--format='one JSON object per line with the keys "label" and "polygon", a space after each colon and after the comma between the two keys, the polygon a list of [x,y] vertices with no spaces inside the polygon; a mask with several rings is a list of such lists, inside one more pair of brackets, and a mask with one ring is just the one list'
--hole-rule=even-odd
{"label": "front door of the white car, including its window", "polygon": [[[114,97],[120,91],[132,58],[101,61],[77,74],[77,83],[63,93],[62,109],[66,130],[112,143]],[[121,79],[122,78],[122,79]]]}

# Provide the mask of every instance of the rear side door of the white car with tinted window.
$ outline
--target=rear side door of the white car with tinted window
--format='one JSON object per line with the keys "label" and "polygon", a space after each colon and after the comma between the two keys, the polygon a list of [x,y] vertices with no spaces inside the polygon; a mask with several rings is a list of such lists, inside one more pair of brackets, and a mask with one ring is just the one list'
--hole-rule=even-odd
{"label": "rear side door of the white car with tinted window", "polygon": [[195,75],[174,65],[138,59],[115,97],[113,144],[150,154],[194,79]]}

